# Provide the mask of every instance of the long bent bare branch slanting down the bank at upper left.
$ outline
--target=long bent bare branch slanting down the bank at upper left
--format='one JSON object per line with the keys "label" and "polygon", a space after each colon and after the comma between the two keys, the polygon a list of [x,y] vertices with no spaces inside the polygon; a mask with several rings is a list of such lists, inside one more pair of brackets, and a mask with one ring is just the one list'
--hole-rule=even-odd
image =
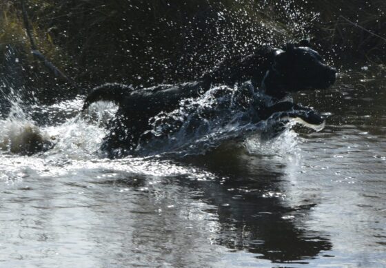
{"label": "long bent bare branch slanting down the bank at upper left", "polygon": [[37,49],[37,45],[34,41],[34,36],[31,30],[32,27],[28,19],[26,5],[24,3],[24,0],[20,0],[20,1],[21,1],[21,10],[23,12],[24,27],[26,27],[26,32],[27,32],[28,38],[30,39],[32,54],[36,59],[39,59],[39,61],[41,61],[45,65],[45,67],[48,68],[48,70],[50,70],[55,76],[59,76],[65,81],[67,81],[68,83],[70,83],[70,85],[72,85],[73,87],[77,87],[77,83],[75,83],[74,80],[70,79],[68,76],[63,74],[63,72],[61,72],[51,61],[48,61],[48,59],[46,59],[45,56]]}

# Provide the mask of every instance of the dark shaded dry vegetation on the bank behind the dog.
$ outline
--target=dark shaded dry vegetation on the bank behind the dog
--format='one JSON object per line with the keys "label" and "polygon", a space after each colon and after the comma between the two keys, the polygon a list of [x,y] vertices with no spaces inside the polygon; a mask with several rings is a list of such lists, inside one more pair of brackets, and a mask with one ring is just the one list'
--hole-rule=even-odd
{"label": "dark shaded dry vegetation on the bank behind the dog", "polygon": [[[336,61],[386,60],[383,0],[26,3],[39,50],[69,76],[88,84],[194,79],[225,56],[302,37],[311,37]],[[0,56],[8,45],[28,55],[19,1],[3,0],[0,10]],[[27,59],[31,64],[32,57]]]}

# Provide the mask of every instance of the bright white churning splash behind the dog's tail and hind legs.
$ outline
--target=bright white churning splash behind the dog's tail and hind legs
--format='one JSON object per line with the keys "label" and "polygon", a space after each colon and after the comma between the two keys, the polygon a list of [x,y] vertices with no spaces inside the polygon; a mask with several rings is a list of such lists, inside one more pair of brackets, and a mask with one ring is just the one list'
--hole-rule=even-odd
{"label": "bright white churning splash behind the dog's tail and hind legs", "polygon": [[109,103],[99,103],[88,116],[82,117],[79,115],[81,97],[54,105],[30,105],[21,101],[13,87],[7,90],[10,94],[4,94],[3,99],[10,102],[10,110],[0,119],[2,154],[94,158],[105,135],[105,123],[116,111]]}

